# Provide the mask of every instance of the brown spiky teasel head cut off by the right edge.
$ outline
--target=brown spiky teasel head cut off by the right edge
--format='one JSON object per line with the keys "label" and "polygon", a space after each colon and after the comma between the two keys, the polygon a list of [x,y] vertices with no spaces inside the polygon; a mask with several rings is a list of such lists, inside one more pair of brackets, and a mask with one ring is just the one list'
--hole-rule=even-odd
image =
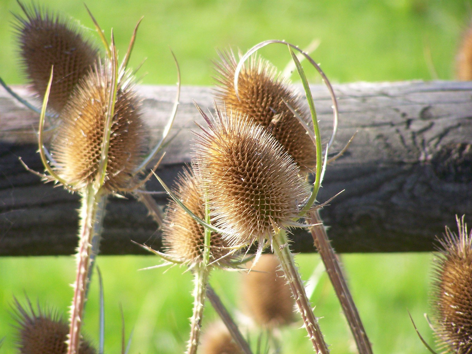
{"label": "brown spiky teasel head cut off by the right edge", "polygon": [[459,235],[446,228],[434,261],[436,335],[444,353],[472,353],[472,233],[457,219]]}

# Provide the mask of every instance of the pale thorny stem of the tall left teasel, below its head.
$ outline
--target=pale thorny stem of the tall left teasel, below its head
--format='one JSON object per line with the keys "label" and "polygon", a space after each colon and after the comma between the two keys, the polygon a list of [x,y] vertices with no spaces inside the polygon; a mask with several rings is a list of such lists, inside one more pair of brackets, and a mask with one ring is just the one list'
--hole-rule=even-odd
{"label": "pale thorny stem of the tall left teasel, below its head", "polygon": [[70,308],[70,330],[67,340],[67,354],[78,354],[80,347],[80,329],[82,327],[84,304],[90,270],[90,256],[92,253],[92,239],[97,221],[98,205],[103,198],[100,190],[89,185],[82,194],[80,208],[79,246],[77,249],[77,276],[74,284],[74,297]]}

